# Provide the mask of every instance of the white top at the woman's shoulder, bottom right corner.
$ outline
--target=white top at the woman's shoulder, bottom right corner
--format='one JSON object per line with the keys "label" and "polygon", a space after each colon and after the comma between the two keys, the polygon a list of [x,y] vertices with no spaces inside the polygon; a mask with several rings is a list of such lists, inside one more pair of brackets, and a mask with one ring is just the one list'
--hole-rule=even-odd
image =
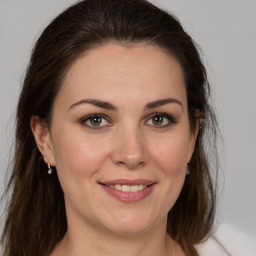
{"label": "white top at the woman's shoulder, bottom right corner", "polygon": [[256,236],[222,224],[205,243],[197,245],[200,256],[256,256]]}

